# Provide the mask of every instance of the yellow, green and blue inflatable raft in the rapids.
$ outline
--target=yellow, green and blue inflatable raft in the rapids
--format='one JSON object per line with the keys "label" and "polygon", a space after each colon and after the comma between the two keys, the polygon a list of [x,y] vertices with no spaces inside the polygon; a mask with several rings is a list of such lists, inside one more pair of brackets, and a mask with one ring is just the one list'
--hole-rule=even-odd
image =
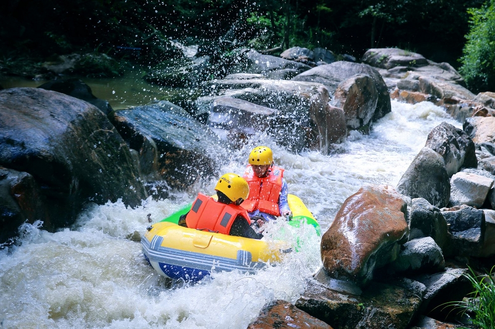
{"label": "yellow, green and blue inflatable raft in the rapids", "polygon": [[[312,225],[319,236],[319,225],[301,199],[289,194],[288,203],[292,211],[289,225]],[[280,262],[292,251],[283,241],[267,242],[179,226],[179,217],[190,208],[191,204],[148,226],[141,238],[144,256],[158,274],[198,281],[212,271],[255,273],[267,264]]]}

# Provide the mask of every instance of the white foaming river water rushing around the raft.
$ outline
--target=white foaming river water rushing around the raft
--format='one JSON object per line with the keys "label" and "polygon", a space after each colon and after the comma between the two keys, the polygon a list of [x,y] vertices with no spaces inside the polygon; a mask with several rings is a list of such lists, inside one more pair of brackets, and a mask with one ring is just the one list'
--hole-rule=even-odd
{"label": "white foaming river water rushing around the raft", "polygon": [[[107,95],[114,108],[152,100],[156,92],[134,86],[142,97],[126,103],[119,94],[130,89],[101,80],[103,87],[87,83],[98,97]],[[9,87],[5,81],[4,87]],[[392,101],[392,112],[371,135],[353,133],[331,155],[291,154],[264,136],[259,143],[272,147],[276,164],[286,169],[289,192],[306,203],[324,232],[361,186],[395,186],[428,133],[443,121],[461,127],[430,102]],[[222,170],[242,173],[252,146],[231,150]],[[214,181],[206,184],[203,192],[211,193]],[[22,244],[0,251],[0,328],[245,328],[266,303],[295,302],[305,280],[321,266],[319,238],[288,230],[285,223],[267,230],[283,226],[285,239],[297,234],[303,243],[281,264],[253,275],[214,273],[197,284],[168,287],[144,260],[140,244],[126,237],[143,233],[148,214],[161,220],[192,201],[193,194],[143,200],[135,209],[121,202],[90,205],[73,227],[56,233],[44,231],[41,223],[24,225]]]}

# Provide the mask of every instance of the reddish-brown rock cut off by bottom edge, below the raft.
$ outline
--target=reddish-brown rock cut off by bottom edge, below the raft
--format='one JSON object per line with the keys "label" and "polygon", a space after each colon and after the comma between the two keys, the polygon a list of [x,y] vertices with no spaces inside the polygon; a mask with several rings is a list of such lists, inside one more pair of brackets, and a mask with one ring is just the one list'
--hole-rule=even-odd
{"label": "reddish-brown rock cut off by bottom edge, below the raft", "polygon": [[256,320],[251,322],[248,329],[269,328],[308,328],[332,329],[331,326],[308,313],[300,310],[285,300],[276,300],[273,305],[265,307]]}

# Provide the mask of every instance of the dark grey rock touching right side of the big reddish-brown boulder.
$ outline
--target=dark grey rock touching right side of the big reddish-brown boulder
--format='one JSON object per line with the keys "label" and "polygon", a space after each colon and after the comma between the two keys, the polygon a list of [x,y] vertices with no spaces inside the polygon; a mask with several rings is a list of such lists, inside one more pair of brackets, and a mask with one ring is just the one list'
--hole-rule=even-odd
{"label": "dark grey rock touching right side of the big reddish-brown boulder", "polygon": [[447,222],[440,209],[424,198],[412,199],[409,230],[409,240],[431,237],[440,248],[449,239]]}

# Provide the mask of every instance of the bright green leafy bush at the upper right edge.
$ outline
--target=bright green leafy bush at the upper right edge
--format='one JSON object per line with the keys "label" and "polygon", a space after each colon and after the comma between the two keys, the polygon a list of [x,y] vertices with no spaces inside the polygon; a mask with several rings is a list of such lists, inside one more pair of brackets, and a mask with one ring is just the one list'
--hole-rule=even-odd
{"label": "bright green leafy bush at the upper right edge", "polygon": [[476,91],[495,90],[495,0],[468,10],[471,19],[459,72]]}

